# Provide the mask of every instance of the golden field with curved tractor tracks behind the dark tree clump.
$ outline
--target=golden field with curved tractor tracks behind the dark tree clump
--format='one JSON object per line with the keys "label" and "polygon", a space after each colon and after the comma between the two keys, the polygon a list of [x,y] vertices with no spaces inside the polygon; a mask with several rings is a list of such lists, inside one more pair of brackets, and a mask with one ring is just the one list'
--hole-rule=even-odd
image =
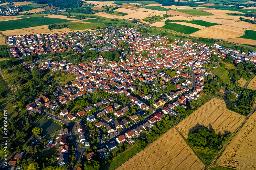
{"label": "golden field with curved tractor tracks behind the dark tree clump", "polygon": [[245,116],[230,111],[223,100],[213,98],[177,125],[185,138],[198,129],[208,129],[221,134],[229,131],[233,133],[243,122]]}

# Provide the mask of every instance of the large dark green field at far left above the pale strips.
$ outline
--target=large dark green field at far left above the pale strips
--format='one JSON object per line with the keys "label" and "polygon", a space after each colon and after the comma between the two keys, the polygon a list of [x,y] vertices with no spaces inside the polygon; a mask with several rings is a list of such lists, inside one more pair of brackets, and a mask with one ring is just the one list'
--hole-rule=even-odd
{"label": "large dark green field at far left above the pale strips", "polygon": [[0,22],[0,31],[13,30],[27,27],[36,27],[41,25],[54,24],[59,22],[68,22],[67,19],[60,18],[46,18],[46,17],[31,17],[18,20],[2,21]]}

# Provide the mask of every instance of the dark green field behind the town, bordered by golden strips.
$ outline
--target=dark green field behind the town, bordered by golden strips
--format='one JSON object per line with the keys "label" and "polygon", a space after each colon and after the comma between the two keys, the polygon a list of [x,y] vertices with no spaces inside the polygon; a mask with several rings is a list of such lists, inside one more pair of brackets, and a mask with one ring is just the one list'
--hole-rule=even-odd
{"label": "dark green field behind the town, bordered by golden strips", "polygon": [[191,34],[193,32],[196,32],[196,31],[200,30],[199,28],[189,27],[189,26],[186,26],[186,25],[180,25],[180,24],[172,23],[172,22],[168,22],[162,28],[166,28],[166,29],[169,29],[169,30],[181,32],[181,33],[184,33],[184,34]]}

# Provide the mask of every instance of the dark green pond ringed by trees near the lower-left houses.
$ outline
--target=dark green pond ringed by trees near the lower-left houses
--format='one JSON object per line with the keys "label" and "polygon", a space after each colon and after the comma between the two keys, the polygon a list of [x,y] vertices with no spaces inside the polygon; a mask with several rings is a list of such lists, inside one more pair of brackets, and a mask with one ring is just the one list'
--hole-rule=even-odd
{"label": "dark green pond ringed by trees near the lower-left houses", "polygon": [[50,136],[54,130],[58,130],[61,126],[51,119],[45,119],[38,127],[43,129],[43,134],[45,136]]}

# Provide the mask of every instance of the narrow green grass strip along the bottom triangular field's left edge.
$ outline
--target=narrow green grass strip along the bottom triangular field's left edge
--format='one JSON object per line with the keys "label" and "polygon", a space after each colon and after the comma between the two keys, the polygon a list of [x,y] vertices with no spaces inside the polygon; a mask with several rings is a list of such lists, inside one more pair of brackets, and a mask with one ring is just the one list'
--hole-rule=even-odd
{"label": "narrow green grass strip along the bottom triangular field's left edge", "polygon": [[140,152],[141,149],[137,147],[137,145],[132,145],[129,149],[121,153],[119,156],[113,159],[113,161],[110,163],[109,170],[114,170],[118,168],[120,165],[128,161],[131,157],[136,155],[138,152]]}

